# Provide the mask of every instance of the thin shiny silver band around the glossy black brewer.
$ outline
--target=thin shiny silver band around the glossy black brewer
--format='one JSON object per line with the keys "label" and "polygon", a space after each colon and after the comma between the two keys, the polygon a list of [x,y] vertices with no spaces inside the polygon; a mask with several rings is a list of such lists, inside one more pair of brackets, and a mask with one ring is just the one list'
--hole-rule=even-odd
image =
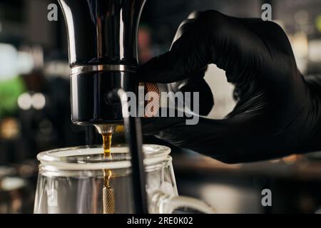
{"label": "thin shiny silver band around the glossy black brewer", "polygon": [[71,74],[75,73],[91,73],[96,71],[123,71],[136,73],[136,66],[126,66],[126,65],[86,65],[86,66],[74,66],[71,68]]}

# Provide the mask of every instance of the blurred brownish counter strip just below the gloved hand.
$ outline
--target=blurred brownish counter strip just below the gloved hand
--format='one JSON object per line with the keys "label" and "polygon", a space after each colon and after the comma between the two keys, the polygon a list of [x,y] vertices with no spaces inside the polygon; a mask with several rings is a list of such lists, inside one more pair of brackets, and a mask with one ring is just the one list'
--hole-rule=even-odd
{"label": "blurred brownish counter strip just below the gloved hand", "polygon": [[291,155],[278,160],[228,165],[210,157],[190,152],[173,156],[175,171],[195,175],[262,175],[295,180],[321,180],[321,152]]}

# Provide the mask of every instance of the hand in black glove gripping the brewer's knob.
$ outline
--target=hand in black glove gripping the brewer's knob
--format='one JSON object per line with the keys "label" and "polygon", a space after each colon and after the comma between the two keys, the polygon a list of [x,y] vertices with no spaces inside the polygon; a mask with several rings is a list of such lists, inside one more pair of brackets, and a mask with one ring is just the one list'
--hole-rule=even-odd
{"label": "hand in black glove gripping the brewer's knob", "polygon": [[170,51],[141,66],[142,81],[198,88],[200,105],[209,100],[202,114],[213,100],[200,86],[200,72],[215,63],[238,90],[238,103],[224,120],[200,118],[198,125],[146,118],[143,133],[227,163],[321,149],[321,78],[301,75],[280,26],[205,11],[185,21],[174,41]]}

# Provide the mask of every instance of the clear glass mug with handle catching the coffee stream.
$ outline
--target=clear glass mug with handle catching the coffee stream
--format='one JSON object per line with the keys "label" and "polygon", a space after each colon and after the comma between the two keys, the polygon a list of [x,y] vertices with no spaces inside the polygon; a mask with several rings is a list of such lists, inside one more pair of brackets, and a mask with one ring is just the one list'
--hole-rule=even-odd
{"label": "clear glass mug with handle catching the coffee stream", "polygon": [[[41,152],[34,213],[135,213],[128,147],[71,147]],[[170,148],[143,145],[150,213],[215,212],[198,199],[178,196]],[[104,190],[108,180],[107,194]],[[109,197],[108,197],[109,195]],[[105,200],[105,201],[104,201]]]}

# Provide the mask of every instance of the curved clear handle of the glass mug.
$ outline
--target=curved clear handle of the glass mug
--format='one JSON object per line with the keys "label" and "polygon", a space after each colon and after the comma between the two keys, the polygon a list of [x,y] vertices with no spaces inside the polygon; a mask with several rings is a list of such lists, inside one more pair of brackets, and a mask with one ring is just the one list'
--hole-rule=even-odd
{"label": "curved clear handle of the glass mug", "polygon": [[199,199],[192,197],[166,195],[156,192],[151,199],[151,213],[172,214],[177,209],[190,209],[204,214],[214,214],[215,209]]}

